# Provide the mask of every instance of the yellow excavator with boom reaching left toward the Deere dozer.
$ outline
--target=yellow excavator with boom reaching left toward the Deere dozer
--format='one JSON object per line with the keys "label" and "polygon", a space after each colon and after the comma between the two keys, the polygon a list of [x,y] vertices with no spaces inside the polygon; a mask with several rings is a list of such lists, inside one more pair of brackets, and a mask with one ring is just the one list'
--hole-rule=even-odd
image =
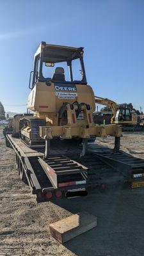
{"label": "yellow excavator with boom reaching left toward the Deere dozer", "polygon": [[111,117],[111,124],[119,124],[123,127],[138,125],[138,115],[134,111],[131,111],[127,105],[120,106],[113,100],[98,96],[95,96],[95,103],[111,108],[113,115]]}

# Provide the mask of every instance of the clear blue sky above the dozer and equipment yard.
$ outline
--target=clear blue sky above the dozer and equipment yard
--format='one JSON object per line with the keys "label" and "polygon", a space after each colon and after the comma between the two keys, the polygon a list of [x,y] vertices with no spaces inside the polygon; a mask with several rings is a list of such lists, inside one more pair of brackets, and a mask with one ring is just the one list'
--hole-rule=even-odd
{"label": "clear blue sky above the dozer and equipment yard", "polygon": [[1,0],[0,101],[23,112],[33,54],[41,41],[84,47],[96,95],[144,110],[143,0]]}

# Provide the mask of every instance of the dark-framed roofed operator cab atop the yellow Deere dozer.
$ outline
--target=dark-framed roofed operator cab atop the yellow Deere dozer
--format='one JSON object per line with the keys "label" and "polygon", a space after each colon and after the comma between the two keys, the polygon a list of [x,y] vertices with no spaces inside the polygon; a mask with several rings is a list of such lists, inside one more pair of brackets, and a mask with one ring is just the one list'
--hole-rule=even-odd
{"label": "dark-framed roofed operator cab atop the yellow Deere dozer", "polygon": [[[81,81],[73,81],[72,76],[72,60],[79,59],[81,63]],[[38,61],[40,61],[39,67],[38,67]],[[86,74],[84,69],[84,62],[83,62],[83,47],[68,47],[63,45],[52,45],[52,44],[46,44],[45,42],[42,42],[40,46],[38,47],[37,51],[35,52],[34,56],[34,64],[33,64],[33,82],[32,82],[32,88],[35,85],[35,77],[36,72],[38,72],[38,81],[45,81],[49,80],[51,81],[51,78],[46,78],[42,75],[42,66],[44,62],[48,63],[61,63],[61,62],[67,62],[69,73],[70,73],[70,82],[63,82],[63,83],[80,83],[80,84],[86,84]],[[29,83],[30,84],[30,83]],[[30,88],[30,86],[29,86]]]}

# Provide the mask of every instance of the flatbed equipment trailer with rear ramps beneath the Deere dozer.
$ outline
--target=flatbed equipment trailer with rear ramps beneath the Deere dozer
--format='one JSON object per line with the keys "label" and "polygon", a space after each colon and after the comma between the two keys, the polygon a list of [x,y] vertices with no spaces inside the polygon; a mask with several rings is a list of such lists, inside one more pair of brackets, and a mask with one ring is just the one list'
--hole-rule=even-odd
{"label": "flatbed equipment trailer with rear ramps beneath the Deere dozer", "polygon": [[19,138],[6,135],[6,145],[16,154],[15,169],[29,185],[37,202],[85,196],[93,188],[144,186],[144,160],[125,152],[113,153],[108,147],[88,143],[88,153],[79,157],[76,150],[53,150],[44,159],[42,148],[29,148]]}

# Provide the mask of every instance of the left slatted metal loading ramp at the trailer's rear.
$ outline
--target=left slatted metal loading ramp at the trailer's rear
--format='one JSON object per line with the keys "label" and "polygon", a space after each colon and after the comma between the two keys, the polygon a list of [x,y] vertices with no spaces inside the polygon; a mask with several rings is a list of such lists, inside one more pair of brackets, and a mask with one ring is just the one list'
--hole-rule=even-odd
{"label": "left slatted metal loading ramp at the trailer's rear", "polygon": [[54,188],[86,184],[88,168],[69,157],[63,155],[49,156],[47,159],[38,157],[38,161]]}

